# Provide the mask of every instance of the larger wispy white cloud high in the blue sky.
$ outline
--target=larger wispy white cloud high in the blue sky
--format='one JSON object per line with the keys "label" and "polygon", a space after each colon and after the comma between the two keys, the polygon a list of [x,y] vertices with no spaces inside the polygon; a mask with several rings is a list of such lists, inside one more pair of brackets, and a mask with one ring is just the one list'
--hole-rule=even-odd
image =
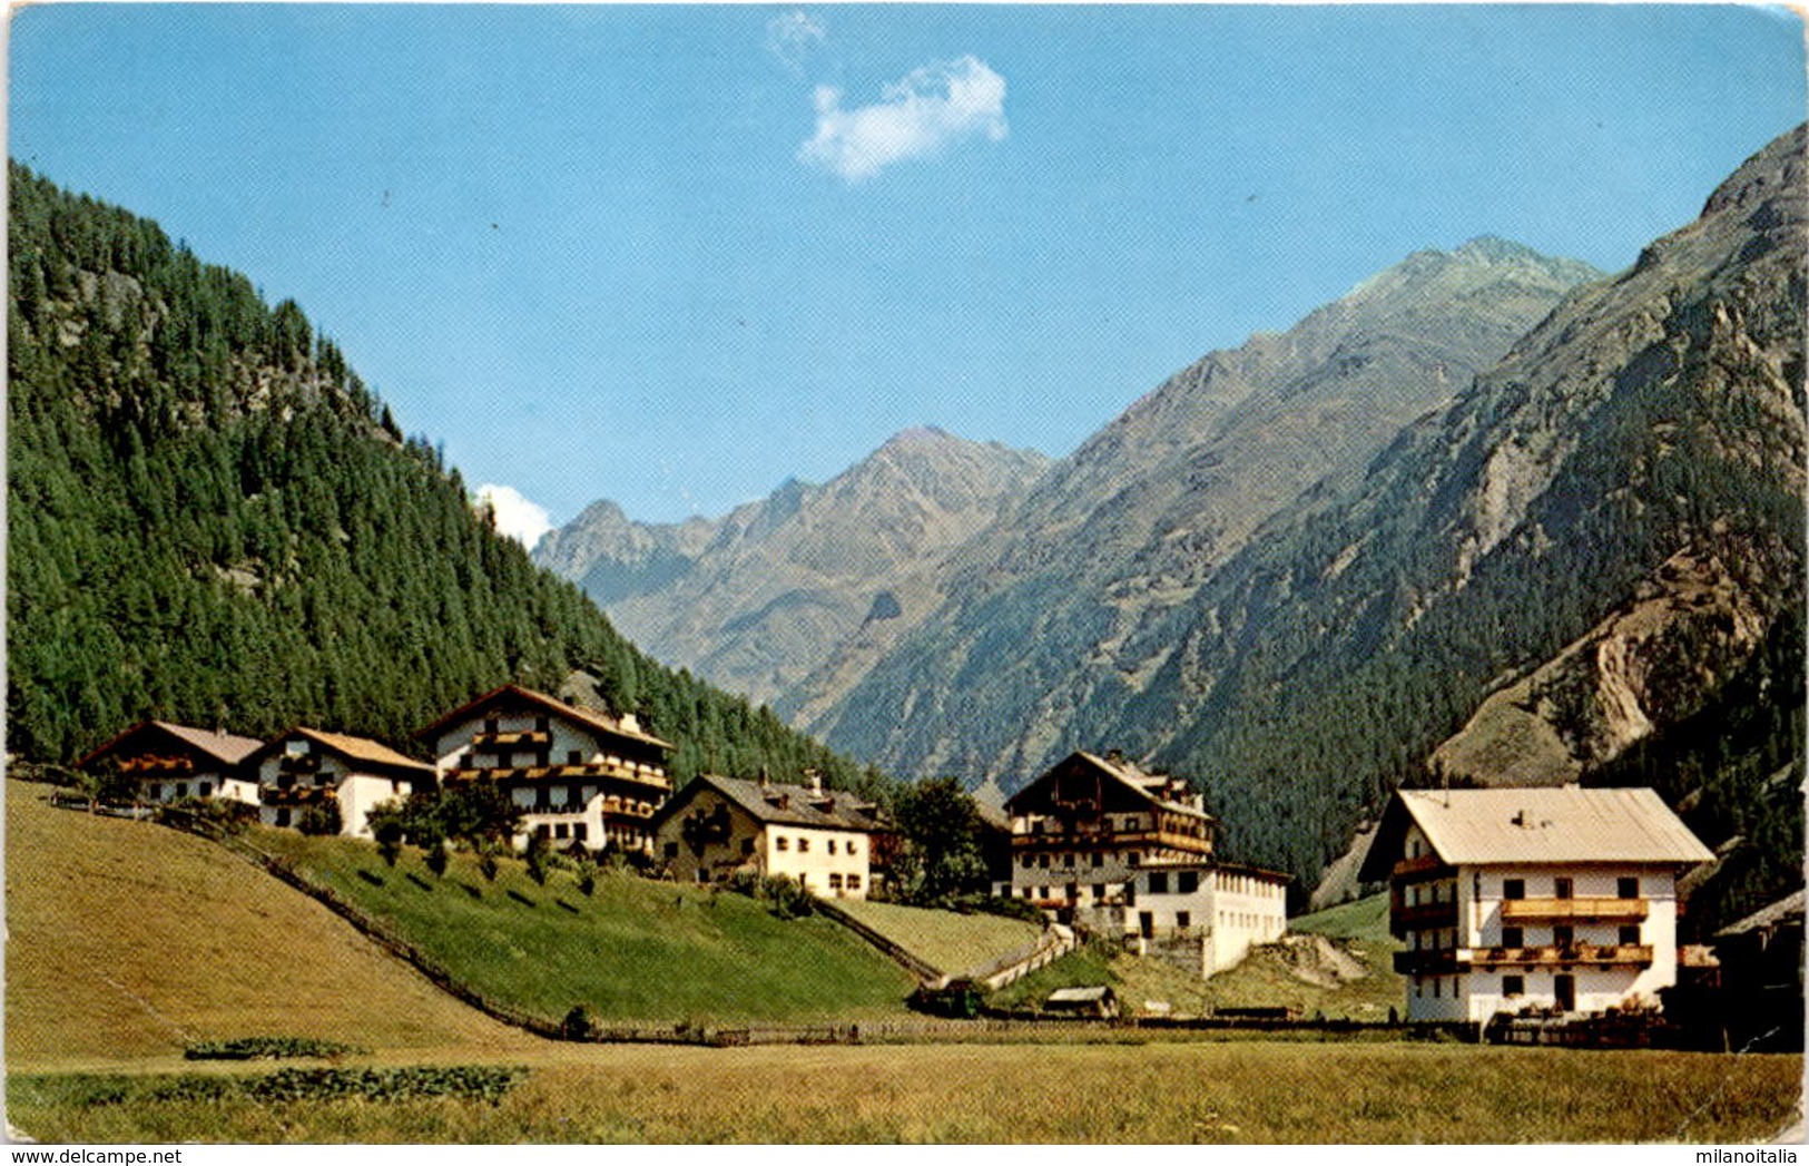
{"label": "larger wispy white cloud high in the blue sky", "polygon": [[798,158],[857,183],[952,141],[1006,136],[1006,80],[973,56],[924,65],[886,85],[877,105],[841,109],[841,91],[816,91],[816,138]]}

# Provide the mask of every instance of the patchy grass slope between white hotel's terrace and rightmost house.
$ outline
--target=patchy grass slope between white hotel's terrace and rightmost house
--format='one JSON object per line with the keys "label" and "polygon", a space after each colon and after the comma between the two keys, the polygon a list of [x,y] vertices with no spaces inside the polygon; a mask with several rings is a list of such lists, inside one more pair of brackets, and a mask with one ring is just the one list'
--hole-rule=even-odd
{"label": "patchy grass slope between white hotel's terrace and rightmost house", "polygon": [[1199,980],[1160,960],[1107,956],[1087,947],[1006,987],[993,1003],[1029,1005],[1060,987],[1109,983],[1129,1012],[1143,1010],[1143,1001],[1160,999],[1176,1014],[1286,1005],[1304,1016],[1324,1012],[1333,1018],[1386,1019],[1389,1008],[1404,1007],[1400,976],[1391,967],[1391,956],[1400,945],[1388,934],[1388,896],[1299,916],[1288,922],[1288,929],[1293,934],[1339,940],[1364,963],[1368,974],[1340,985],[1312,983],[1295,974],[1281,951],[1255,949],[1232,970]]}

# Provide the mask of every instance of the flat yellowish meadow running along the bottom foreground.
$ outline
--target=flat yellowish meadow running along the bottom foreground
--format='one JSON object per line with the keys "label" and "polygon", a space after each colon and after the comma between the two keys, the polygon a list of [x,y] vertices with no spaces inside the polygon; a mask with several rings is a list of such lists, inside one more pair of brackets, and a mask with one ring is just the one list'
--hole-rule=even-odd
{"label": "flat yellowish meadow running along the bottom foreground", "polygon": [[606,1052],[548,1045],[496,1106],[83,1104],[101,1083],[14,1077],[7,1117],[74,1142],[1746,1142],[1791,1121],[1802,1072],[1798,1056],[1393,1043]]}

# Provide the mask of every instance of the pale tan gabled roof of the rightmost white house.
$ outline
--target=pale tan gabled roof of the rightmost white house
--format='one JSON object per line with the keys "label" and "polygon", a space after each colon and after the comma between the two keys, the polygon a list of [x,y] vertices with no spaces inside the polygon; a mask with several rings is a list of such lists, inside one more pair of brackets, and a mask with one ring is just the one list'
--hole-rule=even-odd
{"label": "pale tan gabled roof of the rightmost white house", "polygon": [[1695,865],[1715,856],[1652,789],[1397,789],[1359,878],[1389,876],[1409,824],[1449,865]]}

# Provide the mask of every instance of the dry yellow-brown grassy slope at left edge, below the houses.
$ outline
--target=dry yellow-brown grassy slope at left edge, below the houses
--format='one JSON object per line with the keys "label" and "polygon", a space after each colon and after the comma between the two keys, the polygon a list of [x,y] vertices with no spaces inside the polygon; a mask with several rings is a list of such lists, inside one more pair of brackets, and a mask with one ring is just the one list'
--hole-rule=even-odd
{"label": "dry yellow-brown grassy slope at left edge, below the houses", "polygon": [[190,1039],[526,1048],[318,903],[210,842],[5,784],[9,1070],[179,1056]]}

